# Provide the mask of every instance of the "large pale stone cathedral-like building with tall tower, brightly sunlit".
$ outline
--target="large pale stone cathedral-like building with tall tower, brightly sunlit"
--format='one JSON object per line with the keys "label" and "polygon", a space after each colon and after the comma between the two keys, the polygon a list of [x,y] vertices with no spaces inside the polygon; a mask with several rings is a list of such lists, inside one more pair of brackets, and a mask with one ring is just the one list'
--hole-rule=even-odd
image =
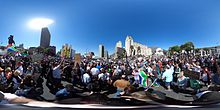
{"label": "large pale stone cathedral-like building with tall tower, brightly sunlit", "polygon": [[152,55],[151,48],[148,48],[146,45],[134,42],[131,36],[126,37],[125,50],[126,50],[127,56],[135,56],[135,55],[150,56]]}

